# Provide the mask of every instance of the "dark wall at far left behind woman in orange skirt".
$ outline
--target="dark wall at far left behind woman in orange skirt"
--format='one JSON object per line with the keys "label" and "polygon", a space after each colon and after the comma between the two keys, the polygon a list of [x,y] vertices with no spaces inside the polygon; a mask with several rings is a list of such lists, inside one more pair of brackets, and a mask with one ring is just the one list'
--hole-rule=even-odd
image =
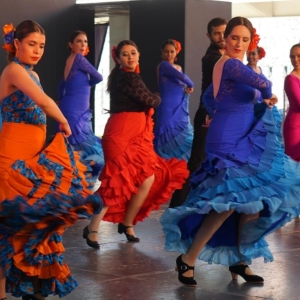
{"label": "dark wall at far left behind woman in orange skirt", "polygon": [[[63,77],[65,60],[69,54],[68,38],[73,30],[87,33],[90,53],[87,58],[94,64],[94,11],[79,9],[75,0],[1,0],[1,26],[31,19],[46,31],[46,47],[42,60],[35,67],[45,92],[57,99],[57,86]],[[6,52],[0,50],[0,72],[7,65]],[[91,106],[93,106],[91,99]],[[93,107],[92,107],[93,108]],[[48,135],[54,133],[55,123],[48,118]]]}

